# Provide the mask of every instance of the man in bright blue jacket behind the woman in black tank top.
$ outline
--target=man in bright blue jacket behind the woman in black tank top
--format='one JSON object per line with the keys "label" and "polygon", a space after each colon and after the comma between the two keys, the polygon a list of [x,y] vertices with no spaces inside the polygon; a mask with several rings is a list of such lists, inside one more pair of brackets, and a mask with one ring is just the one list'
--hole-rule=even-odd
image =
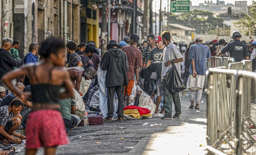
{"label": "man in bright blue jacket behind the woman in black tank top", "polygon": [[[29,53],[24,57],[24,64],[37,64],[37,52],[38,52],[38,45],[37,44],[30,44],[29,45]],[[29,85],[29,78],[27,76],[25,76],[24,79],[24,85],[27,86]]]}

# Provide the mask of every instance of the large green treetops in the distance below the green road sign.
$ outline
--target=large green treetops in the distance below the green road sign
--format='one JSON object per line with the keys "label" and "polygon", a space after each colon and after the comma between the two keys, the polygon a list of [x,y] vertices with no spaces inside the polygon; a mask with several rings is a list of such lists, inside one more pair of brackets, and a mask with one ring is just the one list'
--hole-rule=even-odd
{"label": "large green treetops in the distance below the green road sign", "polygon": [[[214,16],[213,12],[192,10],[190,13],[172,15],[170,23],[194,28],[197,34],[217,34],[223,30],[223,21],[223,18]],[[225,27],[229,29],[229,26]]]}

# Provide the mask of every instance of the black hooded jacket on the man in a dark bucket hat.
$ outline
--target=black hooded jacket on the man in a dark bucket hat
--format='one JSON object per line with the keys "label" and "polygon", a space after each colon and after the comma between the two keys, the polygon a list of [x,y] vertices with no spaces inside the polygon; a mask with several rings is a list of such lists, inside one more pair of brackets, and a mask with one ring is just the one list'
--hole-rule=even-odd
{"label": "black hooded jacket on the man in a dark bucket hat", "polygon": [[101,69],[107,70],[106,87],[128,85],[126,72],[128,71],[127,56],[118,48],[106,51],[101,59]]}

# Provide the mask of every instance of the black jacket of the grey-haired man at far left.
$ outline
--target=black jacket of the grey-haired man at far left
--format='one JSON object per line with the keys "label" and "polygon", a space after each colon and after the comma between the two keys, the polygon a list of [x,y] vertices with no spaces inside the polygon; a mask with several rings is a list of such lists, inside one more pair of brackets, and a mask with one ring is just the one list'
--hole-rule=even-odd
{"label": "black jacket of the grey-haired man at far left", "polygon": [[13,70],[13,67],[17,67],[21,64],[21,60],[15,60],[11,57],[11,54],[3,48],[0,48],[0,79],[2,76]]}

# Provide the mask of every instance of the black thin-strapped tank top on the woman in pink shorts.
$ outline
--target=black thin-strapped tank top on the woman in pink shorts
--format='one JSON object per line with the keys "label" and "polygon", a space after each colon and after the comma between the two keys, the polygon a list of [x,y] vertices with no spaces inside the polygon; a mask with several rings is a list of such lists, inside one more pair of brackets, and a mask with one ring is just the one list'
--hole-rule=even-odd
{"label": "black thin-strapped tank top on the woman in pink shorts", "polygon": [[38,84],[31,84],[33,103],[59,104],[61,86],[50,84],[53,68],[49,72],[49,83],[40,83],[36,76],[36,65],[34,65],[34,75]]}

